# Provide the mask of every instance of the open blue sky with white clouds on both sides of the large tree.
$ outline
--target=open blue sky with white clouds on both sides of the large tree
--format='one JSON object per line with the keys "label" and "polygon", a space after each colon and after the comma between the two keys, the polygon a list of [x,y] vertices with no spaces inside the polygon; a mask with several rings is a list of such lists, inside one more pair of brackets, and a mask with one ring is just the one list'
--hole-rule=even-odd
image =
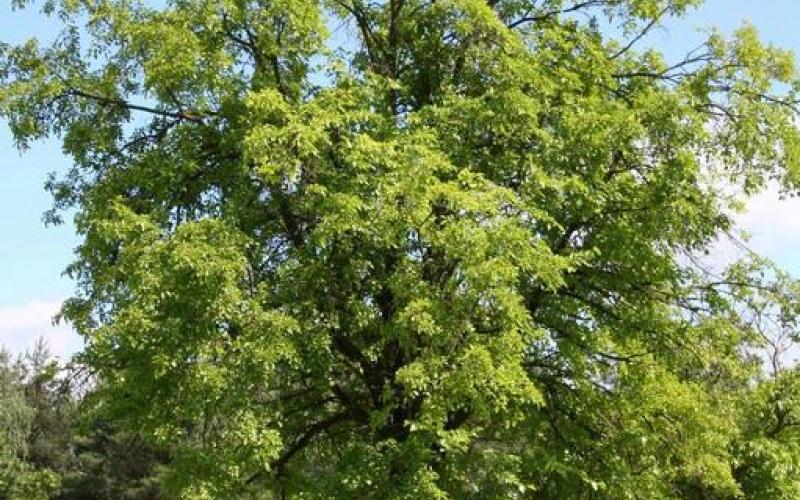
{"label": "open blue sky with white clouds on both sides of the large tree", "polygon": [[[51,38],[58,29],[34,10],[11,12],[0,0],[0,40],[19,42],[29,37]],[[709,0],[682,20],[671,20],[649,37],[671,59],[696,46],[698,30],[718,26],[730,32],[745,20],[762,38],[800,53],[800,1]],[[69,327],[51,325],[60,302],[73,289],[62,271],[78,240],[71,224],[45,227],[42,213],[50,206],[44,191],[48,172],[63,172],[68,160],[55,140],[34,144],[20,155],[5,123],[0,123],[0,345],[14,351],[45,336],[53,351],[66,355],[80,346]],[[752,235],[751,246],[800,276],[800,202],[777,199],[768,190],[740,217]]]}

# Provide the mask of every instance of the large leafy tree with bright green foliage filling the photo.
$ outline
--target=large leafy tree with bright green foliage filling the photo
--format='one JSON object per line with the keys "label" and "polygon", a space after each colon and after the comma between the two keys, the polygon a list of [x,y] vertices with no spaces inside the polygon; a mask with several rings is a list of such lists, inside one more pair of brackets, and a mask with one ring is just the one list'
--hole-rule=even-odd
{"label": "large leafy tree with bright green foliage filling the photo", "polygon": [[190,498],[790,498],[750,299],[796,286],[701,257],[710,179],[794,192],[797,74],[749,26],[639,48],[698,3],[45,2],[0,112],[74,160],[107,418]]}

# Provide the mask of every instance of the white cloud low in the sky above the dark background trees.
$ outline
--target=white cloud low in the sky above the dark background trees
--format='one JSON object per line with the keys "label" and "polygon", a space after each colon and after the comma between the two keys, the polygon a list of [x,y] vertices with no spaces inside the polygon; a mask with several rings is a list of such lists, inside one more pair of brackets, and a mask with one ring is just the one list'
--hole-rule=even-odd
{"label": "white cloud low in the sky above the dark background trees", "polygon": [[53,324],[61,300],[31,301],[25,306],[0,308],[0,346],[13,353],[30,349],[44,338],[53,355],[66,359],[83,345],[68,324]]}

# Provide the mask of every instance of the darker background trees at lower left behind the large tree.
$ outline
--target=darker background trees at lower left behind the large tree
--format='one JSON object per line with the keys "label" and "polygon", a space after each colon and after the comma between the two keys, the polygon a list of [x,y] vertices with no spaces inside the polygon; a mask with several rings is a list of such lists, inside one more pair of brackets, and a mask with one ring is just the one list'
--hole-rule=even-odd
{"label": "darker background trees at lower left behind the large tree", "polygon": [[62,366],[40,340],[12,361],[0,355],[0,497],[159,498],[167,450],[98,414],[83,367]]}

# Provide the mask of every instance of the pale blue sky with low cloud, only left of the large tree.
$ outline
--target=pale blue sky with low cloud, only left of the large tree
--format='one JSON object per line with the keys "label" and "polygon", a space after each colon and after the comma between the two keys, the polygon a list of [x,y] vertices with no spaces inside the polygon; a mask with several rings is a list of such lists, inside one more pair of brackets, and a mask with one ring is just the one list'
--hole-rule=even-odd
{"label": "pale blue sky with low cloud, only left of the large tree", "polygon": [[[0,40],[30,37],[48,40],[58,25],[35,11],[11,12],[0,2]],[[79,341],[51,318],[73,290],[61,272],[70,262],[77,238],[70,224],[45,228],[42,214],[50,206],[44,190],[48,172],[63,171],[68,160],[55,140],[35,144],[25,154],[15,150],[0,120],[0,345],[20,351],[44,336],[59,354]]]}

